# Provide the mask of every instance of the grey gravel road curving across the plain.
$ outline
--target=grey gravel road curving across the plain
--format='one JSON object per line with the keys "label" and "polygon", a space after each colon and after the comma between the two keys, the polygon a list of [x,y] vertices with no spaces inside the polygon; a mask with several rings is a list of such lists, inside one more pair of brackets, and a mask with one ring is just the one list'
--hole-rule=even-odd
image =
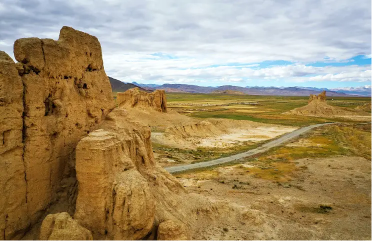
{"label": "grey gravel road curving across the plain", "polygon": [[297,137],[298,135],[300,135],[300,134],[302,134],[302,133],[304,133],[304,132],[306,132],[306,131],[308,131],[312,128],[323,126],[323,125],[328,125],[328,124],[335,124],[335,123],[337,123],[337,122],[320,123],[320,124],[313,124],[313,125],[305,126],[305,127],[293,130],[292,132],[286,133],[286,134],[282,135],[280,138],[271,140],[270,142],[267,142],[267,143],[261,145],[260,147],[257,147],[255,149],[251,149],[251,150],[239,153],[239,154],[230,155],[230,156],[226,156],[226,157],[222,157],[222,158],[218,158],[218,159],[214,159],[214,160],[197,162],[197,163],[193,163],[193,164],[169,166],[169,167],[165,167],[164,169],[167,170],[170,173],[174,173],[174,172],[190,170],[190,169],[195,169],[195,168],[202,168],[202,167],[218,165],[218,164],[226,163],[226,162],[229,162],[229,161],[238,160],[238,159],[241,159],[243,157],[247,157],[247,156],[251,156],[251,155],[254,155],[254,154],[265,152],[268,149],[270,149],[272,147],[275,147],[275,146],[277,146],[277,145],[279,145],[283,142],[286,142],[286,141],[288,141],[288,140],[290,140],[294,137]]}

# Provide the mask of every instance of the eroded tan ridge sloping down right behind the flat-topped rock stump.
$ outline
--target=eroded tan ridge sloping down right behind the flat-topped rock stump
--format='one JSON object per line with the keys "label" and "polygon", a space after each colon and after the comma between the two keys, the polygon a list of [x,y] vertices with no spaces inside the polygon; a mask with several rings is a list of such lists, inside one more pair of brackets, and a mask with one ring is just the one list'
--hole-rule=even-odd
{"label": "eroded tan ridge sloping down right behind the flat-topped rock stump", "polygon": [[[195,200],[188,196],[185,189],[174,176],[155,163],[149,128],[141,126],[137,122],[128,121],[125,118],[125,112],[123,107],[115,108],[107,115],[107,118],[99,127],[116,133],[117,139],[121,143],[124,156],[128,157],[127,160],[130,159],[134,166],[134,170],[138,171],[149,186],[149,192],[155,205],[155,211],[153,213],[155,221],[150,234],[156,237],[157,233],[154,232],[158,224],[169,219],[181,223],[183,231],[188,233],[191,224],[190,219],[193,218],[190,216],[192,212],[190,206],[194,205]],[[125,173],[126,171],[128,170],[123,172]],[[77,178],[79,179],[79,175]],[[135,178],[140,179],[137,177]],[[144,190],[147,189],[145,184],[140,184],[140,186],[142,186]],[[80,197],[78,197],[77,200],[76,212],[78,212],[79,209],[79,198]],[[134,199],[131,203],[133,202]],[[144,217],[146,216],[143,215],[142,218]]]}

